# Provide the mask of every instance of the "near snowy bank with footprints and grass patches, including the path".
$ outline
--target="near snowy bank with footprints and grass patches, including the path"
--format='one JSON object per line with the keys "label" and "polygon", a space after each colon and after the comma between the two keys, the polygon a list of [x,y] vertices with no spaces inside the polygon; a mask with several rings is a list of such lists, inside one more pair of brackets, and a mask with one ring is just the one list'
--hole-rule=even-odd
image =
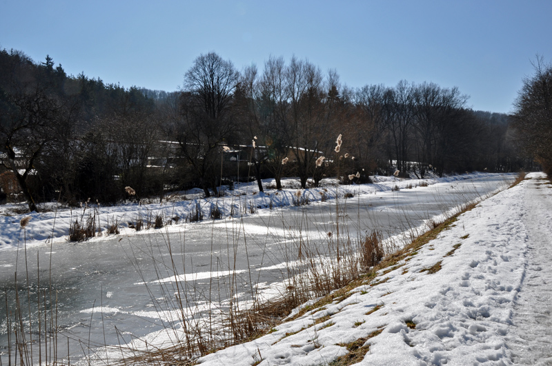
{"label": "near snowy bank with footprints and grass patches, including the path", "polygon": [[[551,362],[552,292],[539,261],[549,266],[552,259],[552,185],[539,180],[544,174],[528,178],[460,215],[348,297],[311,306],[270,334],[199,363],[331,365],[355,352],[360,365]],[[528,313],[538,307],[548,311]]]}

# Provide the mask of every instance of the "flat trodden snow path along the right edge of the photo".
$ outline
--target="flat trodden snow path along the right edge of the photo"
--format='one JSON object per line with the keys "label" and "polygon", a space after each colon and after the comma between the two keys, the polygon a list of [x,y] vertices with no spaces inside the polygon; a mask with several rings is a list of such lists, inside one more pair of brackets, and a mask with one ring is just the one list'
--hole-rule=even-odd
{"label": "flat trodden snow path along the right edge of the photo", "polygon": [[524,197],[526,272],[509,339],[513,362],[521,365],[552,365],[552,195],[547,182],[533,176]]}

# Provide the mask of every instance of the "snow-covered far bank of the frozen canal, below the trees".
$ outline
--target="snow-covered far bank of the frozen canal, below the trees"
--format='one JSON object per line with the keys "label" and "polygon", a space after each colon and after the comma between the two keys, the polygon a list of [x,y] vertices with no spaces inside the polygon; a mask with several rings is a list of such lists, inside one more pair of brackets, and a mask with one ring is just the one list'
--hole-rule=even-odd
{"label": "snow-covered far bank of the frozen canal, below the trees", "polygon": [[[300,194],[309,201],[320,201],[324,199],[335,199],[336,195],[342,196],[346,193],[353,194],[375,194],[376,192],[389,192],[395,185],[402,189],[406,187],[417,187],[419,185],[432,185],[463,179],[482,178],[492,176],[491,173],[474,172],[460,176],[446,176],[443,178],[428,179],[397,179],[394,176],[373,176],[374,184],[338,186],[330,179],[322,181],[323,187],[301,190]],[[263,181],[266,187],[275,186],[272,180]],[[148,217],[155,215],[164,217],[164,222],[170,224],[168,230],[181,230],[181,225],[189,214],[200,207],[205,218],[208,218],[215,205],[221,210],[224,216],[234,214],[235,216],[251,214],[252,211],[264,210],[269,207],[281,207],[293,205],[293,199],[299,188],[297,179],[282,180],[284,190],[266,190],[259,193],[257,183],[239,184],[235,190],[224,191],[224,196],[202,199],[201,190],[181,192],[175,194],[172,199],[167,197],[164,203],[138,204],[125,203],[115,206],[103,206],[100,203],[90,201],[83,203],[85,208],[58,207],[55,203],[43,205],[44,212],[32,212],[30,214],[14,214],[24,210],[26,205],[3,205],[0,207],[0,250],[10,247],[17,247],[23,240],[27,245],[36,245],[52,239],[53,241],[65,241],[68,238],[69,227],[75,220],[86,222],[89,214],[95,215],[97,228],[102,232],[106,231],[109,223],[117,222],[121,229],[121,235],[138,234],[135,230],[128,228],[128,223],[135,223],[141,217],[145,222]],[[253,210],[250,209],[253,207]],[[30,216],[30,223],[21,230],[19,225],[21,218]],[[179,221],[172,220],[178,218]],[[180,224],[179,224],[180,223]],[[141,233],[146,232],[143,230]],[[25,235],[25,238],[23,238]],[[95,239],[92,239],[95,240]]]}

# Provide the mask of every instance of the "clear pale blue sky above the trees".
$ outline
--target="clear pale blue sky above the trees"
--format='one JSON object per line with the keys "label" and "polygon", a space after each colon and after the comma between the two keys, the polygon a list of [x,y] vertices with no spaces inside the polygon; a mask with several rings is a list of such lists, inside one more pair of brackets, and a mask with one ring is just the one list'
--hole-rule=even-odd
{"label": "clear pale blue sky above the trees", "polygon": [[351,87],[433,81],[510,112],[535,54],[552,60],[551,16],[551,0],[0,0],[0,48],[167,92],[201,53],[239,70],[295,54]]}

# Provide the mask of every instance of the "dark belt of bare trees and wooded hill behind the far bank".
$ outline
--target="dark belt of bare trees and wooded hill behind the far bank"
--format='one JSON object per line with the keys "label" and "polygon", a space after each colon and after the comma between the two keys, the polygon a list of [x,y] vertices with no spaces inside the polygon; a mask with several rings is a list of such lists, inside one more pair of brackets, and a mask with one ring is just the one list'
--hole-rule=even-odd
{"label": "dark belt of bare trees and wooded hill behind the far bank", "polygon": [[195,59],[182,91],[127,89],[1,50],[2,174],[18,185],[4,194],[22,192],[36,210],[52,199],[119,201],[128,186],[139,197],[191,186],[209,196],[249,176],[262,190],[268,177],[279,188],[282,176],[306,187],[357,172],[368,181],[395,170],[530,169],[509,116],[473,111],[467,99],[434,83],[348,88],[335,70],[295,57],[239,72],[213,52]]}

